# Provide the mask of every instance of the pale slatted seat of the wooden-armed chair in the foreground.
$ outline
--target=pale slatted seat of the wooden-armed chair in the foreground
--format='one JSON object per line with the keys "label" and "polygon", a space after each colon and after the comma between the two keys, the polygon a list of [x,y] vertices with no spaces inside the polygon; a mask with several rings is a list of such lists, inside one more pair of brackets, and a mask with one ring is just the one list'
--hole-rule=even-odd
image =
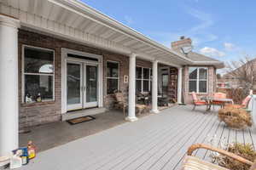
{"label": "pale slatted seat of the wooden-armed chair in the foreground", "polygon": [[224,167],[219,167],[216,164],[202,161],[195,156],[185,156],[183,160],[182,170],[229,170]]}

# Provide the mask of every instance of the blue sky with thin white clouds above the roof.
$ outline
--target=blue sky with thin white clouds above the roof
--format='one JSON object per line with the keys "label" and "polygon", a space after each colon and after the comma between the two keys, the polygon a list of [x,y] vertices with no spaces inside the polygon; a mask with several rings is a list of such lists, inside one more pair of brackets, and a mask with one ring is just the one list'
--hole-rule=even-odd
{"label": "blue sky with thin white clouds above the roof", "polygon": [[190,37],[194,50],[215,59],[256,56],[256,1],[83,0],[167,47]]}

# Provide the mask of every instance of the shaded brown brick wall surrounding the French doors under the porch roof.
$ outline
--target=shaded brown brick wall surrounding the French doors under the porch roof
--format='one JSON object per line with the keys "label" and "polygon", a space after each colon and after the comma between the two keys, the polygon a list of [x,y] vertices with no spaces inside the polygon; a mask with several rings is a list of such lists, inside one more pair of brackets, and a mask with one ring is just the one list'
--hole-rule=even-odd
{"label": "shaded brown brick wall surrounding the French doors under the porch roof", "polygon": [[[49,48],[55,50],[55,101],[22,104],[21,103],[21,57],[22,45],[30,45],[39,48]],[[124,75],[129,75],[129,57],[121,54],[90,48],[75,42],[68,42],[59,38],[45,36],[32,31],[19,31],[19,102],[20,102],[20,127],[30,127],[49,122],[61,121],[61,48],[70,48],[90,54],[100,54],[103,56],[103,99],[104,106],[111,108],[113,95],[107,95],[106,66],[107,60],[119,62],[119,89],[128,92],[128,83],[124,83]],[[151,67],[149,61],[137,59],[137,65]]]}

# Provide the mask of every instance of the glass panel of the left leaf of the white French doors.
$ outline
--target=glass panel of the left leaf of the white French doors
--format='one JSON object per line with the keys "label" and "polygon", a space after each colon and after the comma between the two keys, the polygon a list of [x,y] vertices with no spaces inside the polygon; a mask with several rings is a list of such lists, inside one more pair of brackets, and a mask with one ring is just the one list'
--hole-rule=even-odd
{"label": "glass panel of the left leaf of the white French doors", "polygon": [[82,65],[67,63],[67,110],[82,109]]}

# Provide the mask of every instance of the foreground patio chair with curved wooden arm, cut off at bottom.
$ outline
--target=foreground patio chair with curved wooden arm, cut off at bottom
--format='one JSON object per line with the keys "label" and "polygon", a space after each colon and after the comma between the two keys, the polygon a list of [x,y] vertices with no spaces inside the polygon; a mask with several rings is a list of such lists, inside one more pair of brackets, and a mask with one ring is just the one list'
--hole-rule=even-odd
{"label": "foreground patio chair with curved wooden arm, cut off at bottom", "polygon": [[226,150],[214,148],[207,144],[193,144],[192,146],[189,147],[189,150],[187,151],[187,156],[185,156],[183,160],[182,170],[229,170],[225,167],[220,167],[211,162],[203,161],[198,157],[192,156],[193,151],[198,149],[212,150],[224,156],[229,156],[230,158],[233,158],[236,161],[240,161],[241,163],[249,165],[251,167],[250,170],[255,170],[255,162],[253,163],[252,161],[248,161],[247,159],[241,156],[237,156],[236,154],[233,154]]}

